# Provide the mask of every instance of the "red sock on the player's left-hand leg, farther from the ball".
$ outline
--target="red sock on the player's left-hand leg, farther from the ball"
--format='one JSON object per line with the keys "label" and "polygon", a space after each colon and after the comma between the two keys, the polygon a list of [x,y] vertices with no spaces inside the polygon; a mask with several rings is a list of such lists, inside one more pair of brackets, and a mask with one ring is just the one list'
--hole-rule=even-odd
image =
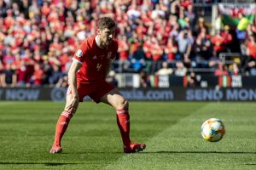
{"label": "red sock on the player's left-hand leg, farther from the ball", "polygon": [[67,111],[63,111],[59,120],[56,124],[56,132],[55,132],[55,145],[61,146],[61,138],[67,130],[68,122],[72,118],[73,114],[70,114]]}

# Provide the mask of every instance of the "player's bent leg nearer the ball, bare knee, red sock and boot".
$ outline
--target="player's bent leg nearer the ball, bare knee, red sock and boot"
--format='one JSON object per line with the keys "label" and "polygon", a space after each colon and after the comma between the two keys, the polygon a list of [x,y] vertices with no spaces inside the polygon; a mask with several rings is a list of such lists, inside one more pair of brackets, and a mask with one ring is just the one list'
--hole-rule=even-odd
{"label": "player's bent leg nearer the ball, bare knee, red sock and boot", "polygon": [[103,103],[112,105],[117,112],[117,124],[122,136],[125,153],[134,153],[143,151],[146,144],[137,144],[131,142],[130,139],[130,115],[129,115],[129,102],[119,94],[117,89],[113,89],[108,94],[105,94],[101,100]]}

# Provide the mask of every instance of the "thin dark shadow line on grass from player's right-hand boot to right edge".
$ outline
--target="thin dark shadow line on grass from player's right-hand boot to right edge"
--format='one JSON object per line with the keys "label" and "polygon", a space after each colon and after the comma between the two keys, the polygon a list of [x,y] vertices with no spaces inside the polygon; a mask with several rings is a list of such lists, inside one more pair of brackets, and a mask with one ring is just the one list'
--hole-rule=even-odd
{"label": "thin dark shadow line on grass from player's right-hand boot to right edge", "polygon": [[143,154],[256,154],[255,151],[145,151]]}

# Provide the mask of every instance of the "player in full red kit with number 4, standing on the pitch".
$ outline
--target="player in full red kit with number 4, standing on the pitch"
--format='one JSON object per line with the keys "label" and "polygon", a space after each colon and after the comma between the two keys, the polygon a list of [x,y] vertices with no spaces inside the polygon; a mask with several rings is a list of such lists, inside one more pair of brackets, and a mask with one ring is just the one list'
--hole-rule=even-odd
{"label": "player in full red kit with number 4, standing on the pitch", "polygon": [[118,43],[113,39],[115,29],[116,24],[111,18],[102,17],[98,21],[97,35],[85,39],[73,55],[73,62],[68,71],[66,106],[56,124],[55,142],[49,150],[50,153],[61,153],[61,138],[77,111],[79,102],[82,102],[86,95],[96,103],[112,105],[116,110],[125,153],[146,148],[146,144],[131,142],[128,101],[117,88],[105,80],[118,50]]}

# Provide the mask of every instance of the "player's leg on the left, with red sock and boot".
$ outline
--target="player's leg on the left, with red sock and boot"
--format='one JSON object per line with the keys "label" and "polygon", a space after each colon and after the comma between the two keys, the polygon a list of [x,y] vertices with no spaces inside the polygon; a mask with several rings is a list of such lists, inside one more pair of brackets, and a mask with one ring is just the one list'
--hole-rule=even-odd
{"label": "player's leg on the left, with red sock and boot", "polygon": [[70,122],[71,118],[73,117],[73,114],[79,106],[79,99],[74,104],[71,104],[73,103],[72,99],[72,94],[68,94],[65,111],[62,111],[61,116],[59,117],[58,122],[56,123],[55,142],[49,150],[49,152],[52,154],[61,153],[61,139],[67,130],[68,123]]}

